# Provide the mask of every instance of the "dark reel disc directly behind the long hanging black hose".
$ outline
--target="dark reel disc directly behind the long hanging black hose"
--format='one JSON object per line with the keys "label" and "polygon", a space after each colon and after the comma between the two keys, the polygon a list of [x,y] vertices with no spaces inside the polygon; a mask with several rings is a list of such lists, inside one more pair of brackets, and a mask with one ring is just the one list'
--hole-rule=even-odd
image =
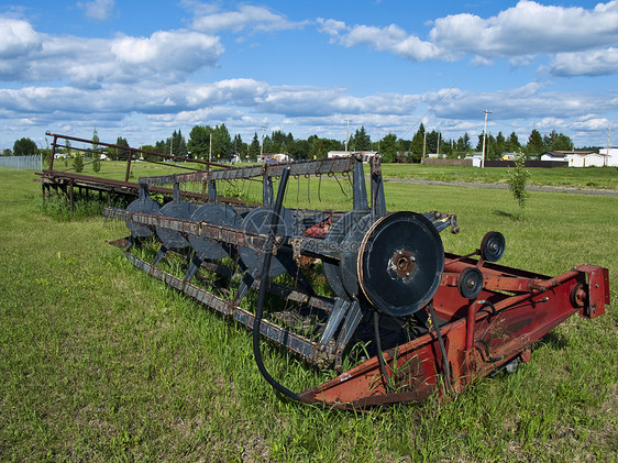
{"label": "dark reel disc directly behind the long hanging black hose", "polygon": [[[260,233],[267,235],[269,233],[271,223],[273,221],[273,209],[252,209],[241,223],[241,229],[252,233]],[[280,217],[278,218],[278,227],[276,234],[286,236],[296,235],[297,227],[296,219],[289,209],[282,208]],[[254,272],[262,271],[262,252],[251,247],[239,247],[241,258],[246,267]],[[271,261],[271,271],[268,276],[282,275],[286,272],[285,266],[280,263],[278,256],[273,255]]]}

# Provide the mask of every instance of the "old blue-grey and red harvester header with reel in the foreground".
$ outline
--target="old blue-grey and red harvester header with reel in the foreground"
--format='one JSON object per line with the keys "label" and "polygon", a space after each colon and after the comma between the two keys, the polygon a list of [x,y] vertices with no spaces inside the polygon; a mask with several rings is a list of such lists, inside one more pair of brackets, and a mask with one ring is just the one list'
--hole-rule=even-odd
{"label": "old blue-grey and red harvester header with reel in the foreground", "polygon": [[[322,177],[349,181],[351,210],[284,207],[288,185]],[[261,205],[219,196],[242,181],[260,186]],[[207,200],[191,201],[188,185],[201,185]],[[163,206],[151,198],[161,188],[173,191]],[[506,249],[499,232],[467,255],[445,253],[440,232],[457,232],[456,218],[388,211],[379,157],[368,179],[354,155],[144,176],[137,199],[104,216],[126,224],[130,235],[111,243],[135,267],[253,330],[266,381],[307,404],[362,408],[459,394],[528,361],[532,344],[572,315],[594,318],[609,304],[606,268],[549,277],[496,264]],[[317,287],[320,277],[328,288]],[[291,392],[262,362],[261,338],[339,376]],[[343,371],[355,345],[366,356]]]}

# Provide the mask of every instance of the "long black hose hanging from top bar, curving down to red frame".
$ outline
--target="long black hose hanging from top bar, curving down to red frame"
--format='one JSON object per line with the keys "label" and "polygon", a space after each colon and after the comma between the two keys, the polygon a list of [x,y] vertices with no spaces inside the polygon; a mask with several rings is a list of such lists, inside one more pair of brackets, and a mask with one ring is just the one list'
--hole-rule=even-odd
{"label": "long black hose hanging from top bar, curving down to red frame", "polygon": [[264,246],[264,263],[262,264],[262,275],[260,276],[260,291],[257,294],[257,307],[255,308],[255,319],[253,320],[253,355],[255,356],[255,364],[264,379],[268,382],[276,390],[284,394],[294,400],[300,400],[298,394],[289,390],[287,387],[278,383],[266,370],[262,361],[262,351],[260,350],[260,327],[262,326],[262,316],[264,313],[264,300],[266,298],[266,288],[268,286],[268,273],[271,272],[271,262],[273,260],[273,247],[275,246],[275,238],[277,234],[277,227],[279,224],[279,214],[282,213],[282,206],[284,202],[284,194],[289,178],[289,167],[285,168],[282,173],[282,181],[277,190],[277,199],[275,201],[275,210],[273,220],[271,222],[271,230]]}

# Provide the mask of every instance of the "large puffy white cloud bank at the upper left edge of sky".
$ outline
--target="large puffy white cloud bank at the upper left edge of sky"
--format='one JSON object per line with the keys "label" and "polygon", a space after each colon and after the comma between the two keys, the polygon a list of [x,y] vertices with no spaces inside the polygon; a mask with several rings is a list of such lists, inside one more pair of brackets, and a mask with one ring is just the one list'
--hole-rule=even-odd
{"label": "large puffy white cloud bank at the upper left edge of sky", "polygon": [[187,30],[108,40],[40,34],[25,21],[5,18],[0,18],[2,25],[0,80],[5,81],[68,79],[80,88],[144,79],[180,81],[216,66],[223,53],[218,36]]}

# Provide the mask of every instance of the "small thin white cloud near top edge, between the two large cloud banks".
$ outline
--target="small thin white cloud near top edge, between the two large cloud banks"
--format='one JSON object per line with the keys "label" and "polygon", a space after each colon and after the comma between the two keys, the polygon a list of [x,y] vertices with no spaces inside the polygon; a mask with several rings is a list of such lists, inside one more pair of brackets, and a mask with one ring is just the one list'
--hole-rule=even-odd
{"label": "small thin white cloud near top edge, between the two large cloud banks", "polygon": [[243,30],[268,32],[296,29],[302,23],[288,21],[284,15],[273,13],[264,7],[245,4],[238,11],[213,11],[199,13],[192,27],[198,31],[214,33],[219,31],[241,32]]}

